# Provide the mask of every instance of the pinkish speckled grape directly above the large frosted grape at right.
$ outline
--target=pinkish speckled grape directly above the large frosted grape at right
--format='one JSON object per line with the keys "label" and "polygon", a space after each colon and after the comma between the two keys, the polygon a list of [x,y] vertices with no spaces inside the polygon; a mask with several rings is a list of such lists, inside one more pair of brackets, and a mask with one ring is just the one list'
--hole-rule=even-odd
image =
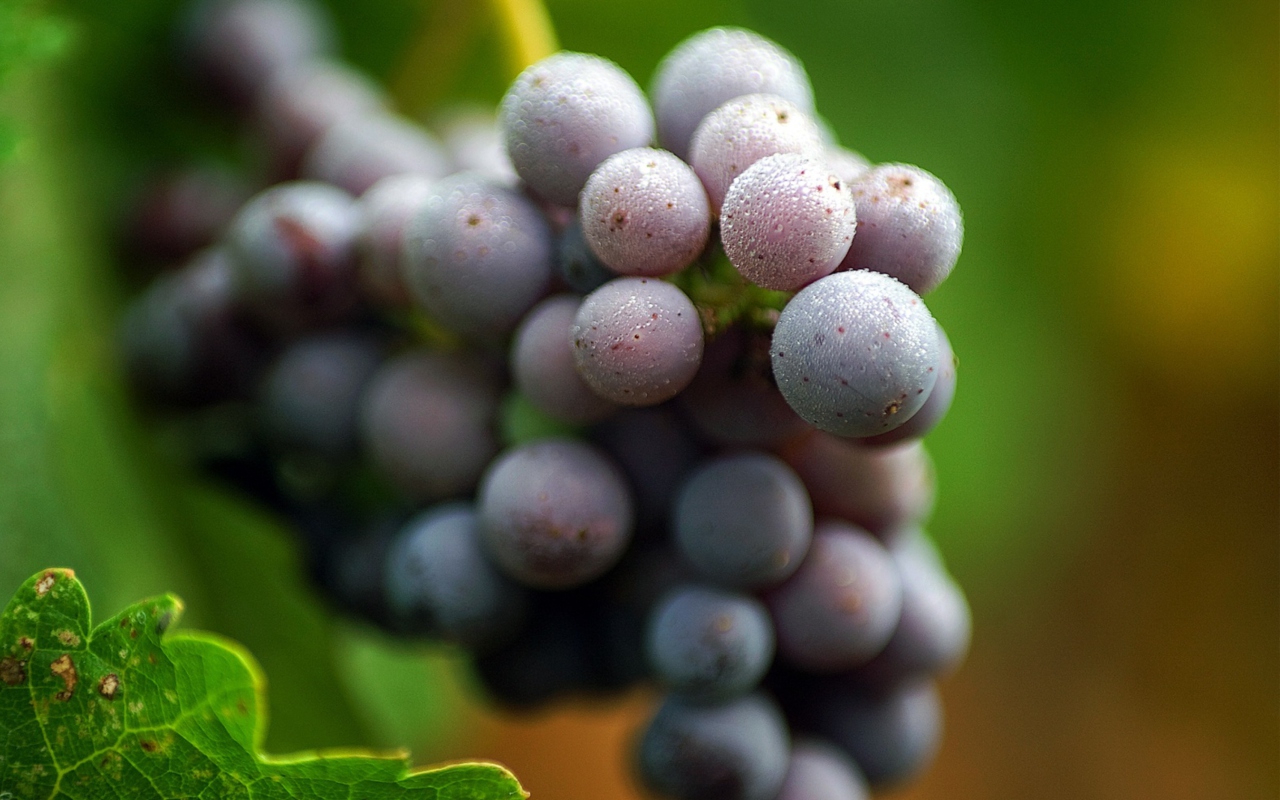
{"label": "pinkish speckled grape directly above the large frosted grape at right", "polygon": [[882,164],[863,173],[852,191],[858,237],[841,269],[883,273],[916,294],[938,288],[964,241],[951,189],[918,166]]}

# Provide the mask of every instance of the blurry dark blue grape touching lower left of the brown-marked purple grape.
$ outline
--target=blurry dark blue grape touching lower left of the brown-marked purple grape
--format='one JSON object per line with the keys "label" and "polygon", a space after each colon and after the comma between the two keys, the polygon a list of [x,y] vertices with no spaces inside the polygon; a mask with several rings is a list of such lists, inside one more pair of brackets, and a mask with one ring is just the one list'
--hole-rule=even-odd
{"label": "blurry dark blue grape touching lower left of the brown-marked purple grape", "polygon": [[485,561],[467,503],[430,508],[404,526],[387,554],[387,604],[404,630],[471,649],[515,632],[522,591]]}

